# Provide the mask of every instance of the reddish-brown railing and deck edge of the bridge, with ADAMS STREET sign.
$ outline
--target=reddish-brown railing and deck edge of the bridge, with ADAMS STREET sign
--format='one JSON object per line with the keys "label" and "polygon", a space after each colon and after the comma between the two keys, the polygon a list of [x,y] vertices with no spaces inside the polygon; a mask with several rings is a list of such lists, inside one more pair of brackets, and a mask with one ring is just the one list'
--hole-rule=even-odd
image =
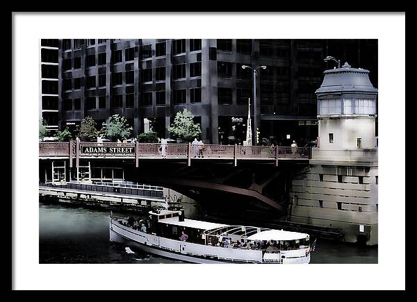
{"label": "reddish-brown railing and deck edge of the bridge, with ADAMS STREET sign", "polygon": [[97,143],[97,142],[40,142],[40,159],[69,159],[72,167],[75,159],[79,167],[79,159],[106,158],[135,160],[136,167],[140,160],[184,160],[190,166],[194,160],[231,160],[236,166],[240,160],[257,160],[274,162],[279,160],[309,161],[311,148],[286,146],[240,146],[204,144],[202,156],[197,156],[193,146],[188,144],[167,144],[166,152],[160,151],[161,144],[147,143]]}

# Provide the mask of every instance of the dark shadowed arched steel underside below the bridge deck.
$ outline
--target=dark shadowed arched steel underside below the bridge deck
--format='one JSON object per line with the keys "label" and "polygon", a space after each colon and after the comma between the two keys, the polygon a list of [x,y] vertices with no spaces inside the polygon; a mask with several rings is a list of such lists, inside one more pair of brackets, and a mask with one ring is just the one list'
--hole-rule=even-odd
{"label": "dark shadowed arched steel underside below the bridge deck", "polygon": [[302,173],[307,165],[204,161],[190,167],[181,162],[142,160],[139,167],[124,164],[126,181],[161,185],[197,201],[204,212],[247,215],[263,212],[281,217],[288,208],[291,176]]}

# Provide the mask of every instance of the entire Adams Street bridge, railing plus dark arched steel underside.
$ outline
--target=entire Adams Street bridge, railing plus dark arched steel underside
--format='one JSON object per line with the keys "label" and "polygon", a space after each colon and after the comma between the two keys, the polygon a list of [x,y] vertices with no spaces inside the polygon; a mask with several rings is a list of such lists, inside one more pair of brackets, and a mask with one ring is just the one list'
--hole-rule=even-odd
{"label": "entire Adams Street bridge, railing plus dark arched steel underside", "polygon": [[103,170],[101,178],[95,171],[117,166],[123,173],[119,181],[172,188],[207,209],[235,211],[248,205],[285,215],[291,178],[308,169],[311,156],[305,147],[205,144],[202,156],[195,155],[191,144],[167,144],[164,155],[160,147],[138,142],[40,142],[40,182],[59,182],[61,176],[80,181],[82,173],[89,182],[103,181]]}

